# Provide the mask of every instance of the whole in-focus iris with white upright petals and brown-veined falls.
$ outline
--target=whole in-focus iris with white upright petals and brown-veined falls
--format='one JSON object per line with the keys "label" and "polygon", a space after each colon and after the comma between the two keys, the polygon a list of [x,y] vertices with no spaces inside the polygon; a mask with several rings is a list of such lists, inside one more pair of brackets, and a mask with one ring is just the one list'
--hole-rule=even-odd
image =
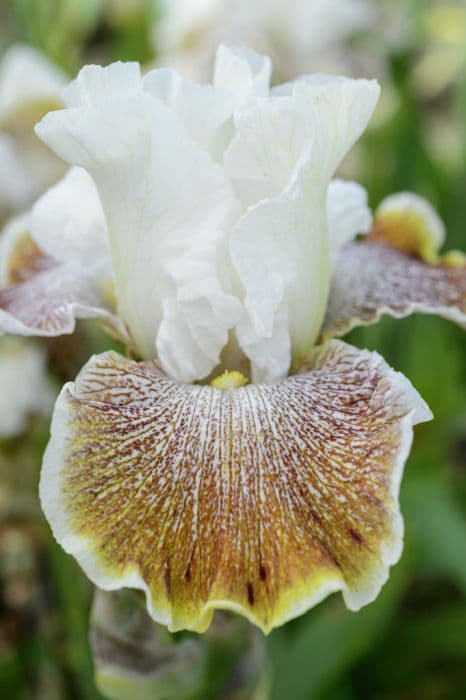
{"label": "whole in-focus iris with white upright petals and brown-veined falls", "polygon": [[222,608],[268,632],[334,591],[375,598],[431,413],[335,338],[382,314],[466,322],[464,261],[438,256],[430,205],[389,198],[371,225],[364,190],[332,181],[377,83],[270,90],[270,73],[228,46],[213,85],[83,68],[37,127],[73,168],[10,241],[0,293],[8,332],[89,317],[126,344],[63,388],[40,494],[89,578],[143,590],[171,630]]}

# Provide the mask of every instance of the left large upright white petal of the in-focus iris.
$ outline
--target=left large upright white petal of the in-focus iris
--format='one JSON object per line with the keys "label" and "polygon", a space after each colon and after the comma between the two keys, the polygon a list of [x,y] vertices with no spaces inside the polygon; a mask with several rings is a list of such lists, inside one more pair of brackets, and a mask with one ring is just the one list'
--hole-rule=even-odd
{"label": "left large upright white petal of the in-focus iris", "polygon": [[[179,117],[143,91],[142,81],[138,92],[123,68],[113,71],[107,81],[98,79],[93,67],[88,85],[88,69],[83,69],[77,84],[86,106],[48,115],[38,133],[62,157],[92,174],[107,220],[120,312],[141,355],[153,357],[167,309],[170,323],[175,309],[181,325],[193,325],[192,305],[188,311],[179,303],[180,290],[218,278],[236,202],[223,170],[192,140]],[[121,73],[121,94],[116,73]],[[112,96],[94,99],[94,87],[110,83]],[[205,324],[214,337],[224,300],[219,308],[217,296],[209,302]],[[204,308],[202,297],[199,303]],[[223,330],[217,337],[224,337]],[[205,357],[218,358],[221,349],[212,346]],[[187,344],[183,350],[186,366],[198,366],[192,358],[199,348]],[[210,372],[215,362],[208,364]],[[177,378],[201,376],[187,371]]]}

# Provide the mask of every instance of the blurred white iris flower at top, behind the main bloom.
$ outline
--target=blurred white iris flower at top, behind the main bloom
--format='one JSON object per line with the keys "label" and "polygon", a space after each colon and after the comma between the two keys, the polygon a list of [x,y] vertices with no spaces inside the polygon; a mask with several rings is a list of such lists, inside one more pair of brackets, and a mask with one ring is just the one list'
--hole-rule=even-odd
{"label": "blurred white iris flower at top, behind the main bloom", "polygon": [[311,65],[323,72],[351,71],[382,78],[386,99],[389,55],[405,47],[412,35],[405,5],[384,0],[163,0],[154,47],[164,65],[203,81],[219,42],[243,42],[273,56],[284,80]]}

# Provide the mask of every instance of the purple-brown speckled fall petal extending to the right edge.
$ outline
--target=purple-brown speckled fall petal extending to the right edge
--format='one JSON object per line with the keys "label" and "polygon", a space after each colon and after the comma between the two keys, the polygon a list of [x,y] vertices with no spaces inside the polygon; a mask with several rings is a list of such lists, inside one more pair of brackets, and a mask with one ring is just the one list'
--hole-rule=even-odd
{"label": "purple-brown speckled fall petal extending to the right edge", "polygon": [[448,256],[436,264],[365,241],[351,243],[334,270],[322,338],[341,336],[388,314],[436,314],[466,327],[466,263]]}

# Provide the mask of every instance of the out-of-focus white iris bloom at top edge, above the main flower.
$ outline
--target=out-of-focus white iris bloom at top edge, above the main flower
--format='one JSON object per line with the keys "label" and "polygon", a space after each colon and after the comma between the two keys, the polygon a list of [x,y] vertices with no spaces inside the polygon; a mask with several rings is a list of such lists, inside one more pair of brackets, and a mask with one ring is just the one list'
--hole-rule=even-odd
{"label": "out-of-focus white iris bloom at top edge, above the main flower", "polygon": [[[187,71],[209,63],[219,37],[248,38],[273,47],[280,61],[326,61],[369,29],[380,15],[370,0],[165,0],[154,29],[157,51]],[[385,28],[384,28],[385,30]],[[348,48],[348,47],[347,47]]]}

